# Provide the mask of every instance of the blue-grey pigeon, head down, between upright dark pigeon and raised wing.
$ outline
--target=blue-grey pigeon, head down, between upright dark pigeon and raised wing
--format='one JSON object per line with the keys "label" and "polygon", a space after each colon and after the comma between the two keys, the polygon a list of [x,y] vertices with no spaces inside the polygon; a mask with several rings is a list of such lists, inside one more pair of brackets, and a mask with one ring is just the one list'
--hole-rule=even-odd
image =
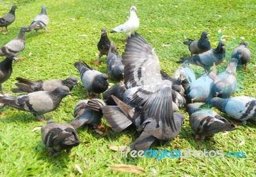
{"label": "blue-grey pigeon, head down, between upright dark pigeon and raised wing", "polygon": [[124,78],[124,65],[122,64],[122,57],[112,52],[111,48],[112,46],[109,47],[108,51],[108,73],[112,78],[115,78],[116,80],[122,80]]}

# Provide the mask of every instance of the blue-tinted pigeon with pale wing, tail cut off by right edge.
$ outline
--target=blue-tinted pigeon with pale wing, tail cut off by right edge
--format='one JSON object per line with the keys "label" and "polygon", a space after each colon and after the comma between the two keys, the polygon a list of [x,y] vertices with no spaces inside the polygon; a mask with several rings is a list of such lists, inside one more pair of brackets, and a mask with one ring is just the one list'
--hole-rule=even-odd
{"label": "blue-tinted pigeon with pale wing, tail cut off by right edge", "polygon": [[[256,99],[248,96],[237,96],[228,99],[214,97],[211,99],[210,105],[217,108],[228,116],[240,120],[245,125],[246,120],[256,117]],[[236,122],[240,124],[240,122]]]}

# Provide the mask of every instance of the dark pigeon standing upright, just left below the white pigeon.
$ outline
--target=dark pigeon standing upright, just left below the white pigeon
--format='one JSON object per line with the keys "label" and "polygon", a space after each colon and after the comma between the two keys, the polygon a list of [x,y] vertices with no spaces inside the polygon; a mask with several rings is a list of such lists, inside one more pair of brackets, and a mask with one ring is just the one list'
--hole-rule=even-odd
{"label": "dark pigeon standing upright, just left below the white pigeon", "polygon": [[99,59],[96,62],[94,62],[93,64],[99,65],[99,61],[100,61],[102,55],[108,55],[110,46],[112,46],[111,50],[113,50],[113,52],[117,52],[115,43],[113,41],[109,41],[106,29],[102,28],[100,41],[97,44],[97,48],[100,52]]}

